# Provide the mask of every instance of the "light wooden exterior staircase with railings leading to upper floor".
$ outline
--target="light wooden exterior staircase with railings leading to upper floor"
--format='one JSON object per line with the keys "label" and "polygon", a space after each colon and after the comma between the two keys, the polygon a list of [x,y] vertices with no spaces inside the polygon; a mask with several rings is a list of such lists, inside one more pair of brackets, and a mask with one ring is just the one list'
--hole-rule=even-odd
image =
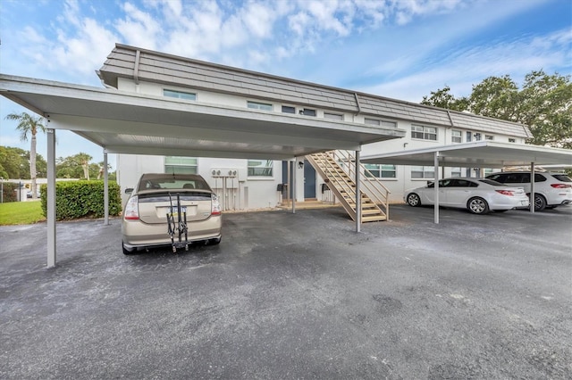
{"label": "light wooden exterior staircase with railings leading to upper floor", "polygon": [[[306,159],[327,183],[349,217],[356,220],[356,160],[347,151],[313,153]],[[360,164],[361,222],[389,219],[390,191]]]}

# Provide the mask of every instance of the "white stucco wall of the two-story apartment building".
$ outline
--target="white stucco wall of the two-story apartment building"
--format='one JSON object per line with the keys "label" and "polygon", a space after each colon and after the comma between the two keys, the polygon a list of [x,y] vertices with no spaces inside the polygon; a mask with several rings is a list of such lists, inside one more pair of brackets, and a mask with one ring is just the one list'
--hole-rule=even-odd
{"label": "white stucco wall of the two-story apartment building", "polygon": [[[247,107],[248,101],[255,101],[265,103],[264,100],[249,99],[238,95],[228,95],[209,92],[205,90],[193,90],[186,87],[177,87],[171,85],[163,85],[149,82],[139,82],[135,85],[132,79],[119,78],[118,88],[122,91],[133,91],[141,94],[163,96],[164,89],[179,90],[183,92],[193,92],[197,94],[197,101],[201,103],[222,104],[232,107]],[[297,109],[304,108],[303,104],[294,103],[273,103],[273,112],[282,112],[282,105],[294,106]],[[325,111],[330,112],[330,111]],[[341,112],[333,112],[341,113]],[[366,116],[354,113],[342,113],[343,120],[356,123],[364,123]],[[324,110],[316,110],[317,118],[324,118]],[[367,116],[367,118],[375,119],[374,117]],[[383,119],[383,118],[381,118]],[[393,121],[395,120],[388,120]],[[415,123],[416,125],[424,125],[423,123]],[[400,152],[403,150],[429,148],[440,145],[450,145],[451,131],[453,129],[461,130],[462,142],[467,142],[467,132],[471,135],[475,131],[468,131],[467,129],[460,128],[437,128],[437,140],[429,141],[423,139],[411,138],[411,122],[397,121],[397,128],[402,128],[407,131],[403,138],[393,139],[389,141],[364,145],[362,147],[361,156],[366,156],[374,153],[391,153]],[[434,127],[425,125],[428,127]],[[488,133],[480,132],[482,138]],[[521,137],[493,135],[494,141],[509,142],[509,138],[514,138],[516,144],[524,144],[525,139]],[[474,140],[475,141],[475,140]],[[353,154],[353,153],[352,153]],[[297,202],[304,201],[304,169],[298,165],[299,161],[304,161],[304,158],[299,158],[294,172],[296,173],[296,200]],[[135,186],[137,180],[143,172],[163,172],[164,171],[164,157],[160,156],[134,156],[119,154],[117,158],[118,169],[118,182],[122,187],[122,194],[126,187]],[[211,175],[212,169],[237,169],[239,170],[239,178],[235,180],[227,179],[223,186],[223,179],[215,179]],[[444,169],[444,177],[450,176],[451,169]],[[227,160],[227,159],[213,159],[213,158],[198,158],[198,174],[202,175],[211,187],[222,198],[222,202],[227,210],[233,209],[259,209],[266,207],[273,207],[279,201],[276,186],[282,183],[282,161],[273,161],[273,176],[272,178],[248,178],[248,161],[247,160]],[[441,174],[441,173],[440,173]],[[466,169],[462,169],[461,175],[466,175]],[[475,176],[475,172],[472,171]],[[397,166],[396,178],[383,179],[383,185],[391,191],[390,202],[402,202],[403,193],[405,190],[413,187],[422,186],[427,182],[427,178],[411,178],[411,167]],[[315,184],[315,196],[321,199],[321,184],[324,183],[322,178],[317,176]],[[124,201],[126,200],[123,194]]]}

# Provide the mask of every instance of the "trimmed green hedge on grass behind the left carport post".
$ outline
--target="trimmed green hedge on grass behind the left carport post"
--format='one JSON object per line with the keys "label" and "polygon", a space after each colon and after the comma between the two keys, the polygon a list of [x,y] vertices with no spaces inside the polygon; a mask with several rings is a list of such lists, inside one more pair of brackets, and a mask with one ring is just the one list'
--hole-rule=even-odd
{"label": "trimmed green hedge on grass behind the left carport post", "polygon": [[[42,212],[47,217],[46,186],[41,186]],[[122,212],[119,185],[109,182],[109,215]],[[103,218],[104,181],[63,181],[55,183],[55,219]]]}

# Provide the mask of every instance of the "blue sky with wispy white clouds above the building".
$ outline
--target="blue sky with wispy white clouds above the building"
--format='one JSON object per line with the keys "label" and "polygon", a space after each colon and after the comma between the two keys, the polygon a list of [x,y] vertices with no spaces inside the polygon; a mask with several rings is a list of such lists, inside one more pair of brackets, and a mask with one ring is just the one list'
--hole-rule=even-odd
{"label": "blue sky with wispy white clouds above the building", "polygon": [[[103,87],[96,70],[116,43],[419,103],[491,76],[571,75],[572,1],[0,1],[2,74]],[[29,150],[5,120],[21,112],[0,96],[0,145]],[[103,161],[80,136],[56,140],[56,157]]]}

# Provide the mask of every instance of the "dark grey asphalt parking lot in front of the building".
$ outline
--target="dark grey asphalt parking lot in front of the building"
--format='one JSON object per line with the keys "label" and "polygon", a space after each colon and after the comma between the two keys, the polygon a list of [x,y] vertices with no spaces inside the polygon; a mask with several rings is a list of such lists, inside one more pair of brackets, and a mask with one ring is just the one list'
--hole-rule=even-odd
{"label": "dark grey asphalt parking lot in front of the building", "polygon": [[224,216],[124,256],[120,220],[0,227],[0,378],[569,379],[572,208]]}

